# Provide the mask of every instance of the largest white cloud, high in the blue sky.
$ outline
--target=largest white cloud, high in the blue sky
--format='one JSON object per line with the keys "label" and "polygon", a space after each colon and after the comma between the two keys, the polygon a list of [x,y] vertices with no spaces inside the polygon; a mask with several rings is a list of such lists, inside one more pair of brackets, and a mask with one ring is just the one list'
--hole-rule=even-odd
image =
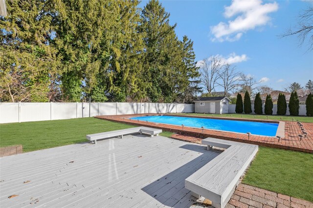
{"label": "largest white cloud, high in the blue sky", "polygon": [[277,11],[278,4],[262,3],[262,0],[232,0],[231,5],[225,7],[224,16],[225,18],[237,17],[227,23],[220,22],[212,26],[211,33],[214,35],[212,41],[236,41],[246,31],[266,25],[270,21],[268,13]]}

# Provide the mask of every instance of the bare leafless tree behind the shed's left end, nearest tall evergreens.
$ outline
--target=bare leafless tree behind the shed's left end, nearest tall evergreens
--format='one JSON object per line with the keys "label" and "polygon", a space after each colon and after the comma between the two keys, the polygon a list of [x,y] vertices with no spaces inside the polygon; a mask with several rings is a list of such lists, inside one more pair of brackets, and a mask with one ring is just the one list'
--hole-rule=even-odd
{"label": "bare leafless tree behind the shed's left end, nearest tall evergreens", "polygon": [[205,87],[209,95],[212,95],[217,80],[220,78],[219,71],[223,66],[224,63],[219,57],[206,58],[200,63],[201,84]]}

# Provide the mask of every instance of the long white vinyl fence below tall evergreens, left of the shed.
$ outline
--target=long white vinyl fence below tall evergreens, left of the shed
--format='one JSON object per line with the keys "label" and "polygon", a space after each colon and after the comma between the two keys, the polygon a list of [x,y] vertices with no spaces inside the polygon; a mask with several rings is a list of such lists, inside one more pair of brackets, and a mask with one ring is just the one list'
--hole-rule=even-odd
{"label": "long white vinyl fence below tall evergreens, left of the shed", "polygon": [[0,123],[45,121],[96,115],[193,113],[194,104],[177,103],[0,103]]}

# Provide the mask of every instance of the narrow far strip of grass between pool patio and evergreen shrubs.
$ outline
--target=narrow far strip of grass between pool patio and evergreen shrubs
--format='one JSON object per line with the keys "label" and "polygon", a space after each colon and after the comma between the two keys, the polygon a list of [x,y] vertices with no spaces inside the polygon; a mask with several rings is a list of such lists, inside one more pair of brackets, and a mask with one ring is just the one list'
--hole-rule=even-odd
{"label": "narrow far strip of grass between pool patio and evergreen shrubs", "polygon": [[[227,118],[250,118],[250,119],[263,119],[263,120],[278,120],[282,118],[283,121],[299,120],[301,122],[313,123],[313,117],[309,116],[290,116],[290,115],[256,115],[256,114],[237,114],[237,113],[224,113],[224,114],[209,114],[209,113],[175,113],[180,115],[201,115],[213,117],[227,117]],[[268,118],[267,118],[268,116]]]}

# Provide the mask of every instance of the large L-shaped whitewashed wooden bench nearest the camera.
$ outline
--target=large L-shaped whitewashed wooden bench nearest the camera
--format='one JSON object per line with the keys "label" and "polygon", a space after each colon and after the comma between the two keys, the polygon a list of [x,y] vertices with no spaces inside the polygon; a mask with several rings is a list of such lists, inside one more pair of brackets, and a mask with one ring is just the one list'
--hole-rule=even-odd
{"label": "large L-shaped whitewashed wooden bench nearest the camera", "polygon": [[211,200],[213,207],[224,208],[258,146],[216,138],[203,139],[202,144],[207,145],[208,150],[212,147],[226,150],[186,178],[185,188],[196,198],[203,196]]}

